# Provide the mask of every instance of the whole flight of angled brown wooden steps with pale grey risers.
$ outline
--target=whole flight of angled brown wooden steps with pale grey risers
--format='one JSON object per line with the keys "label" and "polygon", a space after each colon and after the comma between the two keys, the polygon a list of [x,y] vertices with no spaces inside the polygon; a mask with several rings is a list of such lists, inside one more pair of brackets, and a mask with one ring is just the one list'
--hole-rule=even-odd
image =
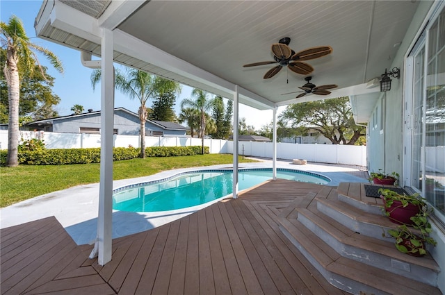
{"label": "whole flight of angled brown wooden steps with pale grey risers", "polygon": [[[346,292],[441,294],[437,289],[440,268],[430,254],[406,255],[396,249],[394,239],[382,237],[397,225],[382,214],[381,200],[363,198],[360,185],[341,186],[291,203],[278,216],[284,235],[326,280]],[[362,205],[343,202],[339,192],[345,191],[355,194],[344,196],[353,203],[373,205],[378,211],[374,214],[362,210]]]}

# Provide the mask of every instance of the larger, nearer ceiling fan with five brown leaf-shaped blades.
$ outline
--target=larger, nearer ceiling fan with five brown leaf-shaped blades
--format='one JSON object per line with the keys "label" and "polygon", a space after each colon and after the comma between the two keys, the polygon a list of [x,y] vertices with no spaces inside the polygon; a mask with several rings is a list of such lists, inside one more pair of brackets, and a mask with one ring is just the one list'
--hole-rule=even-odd
{"label": "larger, nearer ceiling fan with five brown leaf-shaped blades", "polygon": [[288,46],[290,42],[291,38],[284,37],[278,43],[272,44],[273,61],[254,62],[243,65],[243,67],[278,63],[279,65],[267,71],[263,77],[265,79],[272,78],[286,66],[297,74],[308,75],[314,71],[314,68],[306,62],[302,62],[302,60],[313,60],[314,58],[321,58],[332,53],[332,47],[330,46],[312,47],[296,53]]}

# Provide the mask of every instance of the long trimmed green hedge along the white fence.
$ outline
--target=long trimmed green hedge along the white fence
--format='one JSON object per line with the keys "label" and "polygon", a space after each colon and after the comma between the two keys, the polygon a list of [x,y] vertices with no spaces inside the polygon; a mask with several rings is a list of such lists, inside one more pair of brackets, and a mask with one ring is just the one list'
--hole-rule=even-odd
{"label": "long trimmed green hedge along the white fence", "polygon": [[[204,147],[209,153],[209,147]],[[8,151],[0,151],[0,166],[6,165]],[[172,157],[178,155],[199,155],[201,146],[154,146],[145,149],[147,157]],[[113,148],[113,160],[130,160],[138,158],[140,150],[134,147]],[[19,164],[26,165],[70,165],[100,162],[100,148],[91,149],[20,149]]]}

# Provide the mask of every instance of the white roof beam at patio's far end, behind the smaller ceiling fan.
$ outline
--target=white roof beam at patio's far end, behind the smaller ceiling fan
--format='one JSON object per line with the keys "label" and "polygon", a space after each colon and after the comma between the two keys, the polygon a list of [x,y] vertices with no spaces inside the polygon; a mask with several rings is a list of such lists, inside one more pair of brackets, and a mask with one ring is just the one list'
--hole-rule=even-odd
{"label": "white roof beam at patio's far end, behind the smaller ceiling fan", "polygon": [[321,101],[322,99],[335,99],[337,97],[343,97],[343,96],[353,96],[353,95],[360,95],[360,94],[369,94],[374,92],[380,92],[380,87],[373,87],[373,88],[367,88],[367,83],[362,83],[359,85],[353,85],[350,87],[341,88],[338,90],[332,90],[331,94],[329,95],[307,95],[303,96],[299,99],[289,99],[288,101],[280,101],[277,103],[277,106],[287,106],[291,103],[302,103],[307,101]]}

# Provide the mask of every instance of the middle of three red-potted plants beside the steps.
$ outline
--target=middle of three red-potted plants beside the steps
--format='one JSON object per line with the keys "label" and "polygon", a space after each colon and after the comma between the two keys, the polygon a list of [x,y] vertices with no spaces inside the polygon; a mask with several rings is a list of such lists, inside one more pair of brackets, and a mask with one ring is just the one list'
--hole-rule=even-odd
{"label": "middle of three red-potted plants beside the steps", "polygon": [[383,200],[383,211],[395,224],[412,225],[411,217],[427,207],[425,199],[419,194],[398,194],[391,189],[384,188],[379,189],[378,192]]}

